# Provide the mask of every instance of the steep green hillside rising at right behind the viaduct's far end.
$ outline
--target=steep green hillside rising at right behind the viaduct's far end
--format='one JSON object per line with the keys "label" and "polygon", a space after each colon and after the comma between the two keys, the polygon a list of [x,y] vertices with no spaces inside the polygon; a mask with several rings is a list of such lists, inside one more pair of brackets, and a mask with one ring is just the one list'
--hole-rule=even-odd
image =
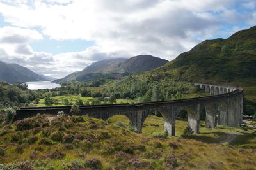
{"label": "steep green hillside rising at right behind the viaduct's far end", "polygon": [[152,71],[161,72],[197,82],[255,83],[256,27],[238,31],[227,39],[203,41]]}

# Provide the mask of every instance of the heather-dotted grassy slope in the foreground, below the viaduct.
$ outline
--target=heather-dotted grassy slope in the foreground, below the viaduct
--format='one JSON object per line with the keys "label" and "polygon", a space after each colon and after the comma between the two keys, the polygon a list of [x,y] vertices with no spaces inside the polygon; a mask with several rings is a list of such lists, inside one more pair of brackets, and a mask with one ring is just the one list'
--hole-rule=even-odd
{"label": "heather-dotted grassy slope in the foreground, below the viaduct", "polygon": [[[255,150],[207,144],[194,139],[150,138],[94,118],[52,118],[44,115],[28,118],[26,122],[31,122],[31,125],[19,126],[26,127],[26,130],[17,129],[17,123],[1,129],[0,162],[4,165],[0,165],[0,169],[71,169],[75,165],[80,165],[80,169],[83,169],[84,166],[92,167],[93,162],[95,165],[99,161],[101,169],[167,169],[171,166],[177,169],[253,169],[256,166],[253,161]],[[84,139],[77,138],[70,144],[51,141],[52,134],[57,131],[64,135],[80,134]],[[38,139],[29,143],[32,136]],[[49,144],[42,144],[43,138]],[[58,153],[49,155],[54,152]],[[64,154],[63,157],[60,152]],[[92,160],[92,157],[99,161]],[[84,164],[90,160],[91,164]]]}

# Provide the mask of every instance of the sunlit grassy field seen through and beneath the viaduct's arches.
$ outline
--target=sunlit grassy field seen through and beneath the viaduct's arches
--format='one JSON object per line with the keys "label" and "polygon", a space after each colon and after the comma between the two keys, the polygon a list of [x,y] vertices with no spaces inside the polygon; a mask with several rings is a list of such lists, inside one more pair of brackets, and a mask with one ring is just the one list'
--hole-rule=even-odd
{"label": "sunlit grassy field seen through and beneath the viaduct's arches", "polygon": [[[109,118],[108,121],[113,124],[118,124],[118,123],[120,124],[120,122],[122,122],[122,124],[124,124],[125,126],[128,126],[129,124],[129,119],[124,115],[116,115],[114,117]],[[142,134],[145,136],[152,136],[152,137],[159,136],[161,134],[163,135],[163,131],[164,131],[163,122],[164,121],[162,117],[156,117],[155,115],[150,115],[149,117],[146,118],[143,124]],[[186,128],[187,124],[188,124],[188,120],[184,118],[177,118],[176,124],[175,124],[175,132],[176,132],[175,135],[178,138],[184,132],[184,129]],[[230,136],[230,134],[239,134],[237,136],[237,141],[239,141],[239,140],[243,140],[244,135],[242,134],[246,134],[246,136],[248,136],[250,132],[253,132],[253,131],[255,130],[248,129],[246,131],[241,129],[241,127],[228,127],[225,125],[218,125],[218,127],[214,129],[209,129],[205,127],[205,121],[200,121],[200,134],[195,134],[191,136],[191,138],[196,139],[198,141],[204,141],[207,143],[218,143],[220,141],[225,140],[228,136]],[[173,138],[173,137],[170,137],[170,138]],[[256,146],[255,140],[256,138],[253,138],[253,139],[249,138],[248,143],[255,143],[255,146]],[[239,143],[234,143],[234,145],[239,145]]]}

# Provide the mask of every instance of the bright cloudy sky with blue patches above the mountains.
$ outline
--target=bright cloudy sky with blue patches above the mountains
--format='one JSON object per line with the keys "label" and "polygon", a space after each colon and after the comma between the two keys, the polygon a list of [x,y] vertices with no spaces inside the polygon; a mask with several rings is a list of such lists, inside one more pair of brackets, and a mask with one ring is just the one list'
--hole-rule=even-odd
{"label": "bright cloudy sky with blue patches above the mountains", "polygon": [[0,61],[62,78],[98,60],[173,60],[256,25],[255,0],[0,0]]}

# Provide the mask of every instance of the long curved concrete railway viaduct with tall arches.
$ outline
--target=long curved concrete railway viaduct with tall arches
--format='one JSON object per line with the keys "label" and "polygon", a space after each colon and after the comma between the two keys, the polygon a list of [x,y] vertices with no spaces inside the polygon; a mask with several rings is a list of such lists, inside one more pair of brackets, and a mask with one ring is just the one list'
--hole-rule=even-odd
{"label": "long curved concrete railway viaduct with tall arches", "polygon": [[[188,113],[188,124],[195,133],[199,133],[200,113],[205,108],[206,127],[214,128],[217,124],[239,126],[243,118],[243,89],[226,85],[210,85],[195,83],[200,89],[211,96],[180,99],[175,101],[157,101],[137,104],[104,104],[95,106],[80,106],[79,115],[107,120],[114,115],[125,115],[141,133],[142,125],[148,115],[159,111],[164,119],[164,131],[175,136],[175,120],[181,110]],[[70,115],[70,106],[21,108],[17,110],[15,120],[32,117],[37,113],[56,115],[64,111]]]}

